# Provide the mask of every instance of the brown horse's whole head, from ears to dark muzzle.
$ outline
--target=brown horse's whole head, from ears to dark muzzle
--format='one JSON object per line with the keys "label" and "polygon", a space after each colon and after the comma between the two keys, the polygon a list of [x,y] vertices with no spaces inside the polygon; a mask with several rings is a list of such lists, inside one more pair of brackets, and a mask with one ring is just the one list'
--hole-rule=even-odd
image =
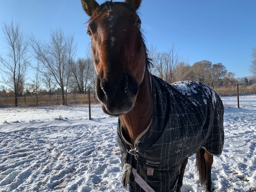
{"label": "brown horse's whole head, from ears to dark muzzle", "polygon": [[97,72],[96,94],[106,114],[132,110],[146,69],[146,51],[136,10],[141,0],[81,0],[90,16],[87,33]]}

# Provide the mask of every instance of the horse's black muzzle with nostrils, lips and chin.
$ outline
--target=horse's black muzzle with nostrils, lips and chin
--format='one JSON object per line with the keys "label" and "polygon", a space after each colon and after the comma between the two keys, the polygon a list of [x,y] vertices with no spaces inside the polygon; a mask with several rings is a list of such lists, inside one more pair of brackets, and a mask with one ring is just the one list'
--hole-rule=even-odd
{"label": "horse's black muzzle with nostrils, lips and chin", "polygon": [[110,79],[100,75],[96,78],[96,94],[103,111],[111,116],[120,116],[132,110],[139,91],[135,76],[127,70],[120,77]]}

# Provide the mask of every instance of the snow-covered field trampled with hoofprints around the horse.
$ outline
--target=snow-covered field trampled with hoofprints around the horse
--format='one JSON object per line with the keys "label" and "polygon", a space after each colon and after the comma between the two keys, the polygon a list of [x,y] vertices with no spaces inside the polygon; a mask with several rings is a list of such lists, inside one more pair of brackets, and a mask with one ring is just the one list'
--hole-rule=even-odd
{"label": "snow-covered field trampled with hoofprints around the horse", "polygon": [[[225,144],[214,157],[216,192],[256,191],[256,95],[221,97]],[[124,192],[117,118],[92,106],[0,108],[0,191]],[[195,156],[182,192],[201,192]]]}

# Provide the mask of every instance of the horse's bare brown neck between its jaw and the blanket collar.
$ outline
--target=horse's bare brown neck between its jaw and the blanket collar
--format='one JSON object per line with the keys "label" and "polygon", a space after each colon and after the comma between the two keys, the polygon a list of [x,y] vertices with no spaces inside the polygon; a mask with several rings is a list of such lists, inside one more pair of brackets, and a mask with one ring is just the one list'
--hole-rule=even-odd
{"label": "horse's bare brown neck between its jaw and the blanket collar", "polygon": [[148,127],[153,115],[153,98],[151,93],[150,73],[146,69],[144,79],[139,86],[134,108],[120,116],[122,132],[133,146],[136,138]]}

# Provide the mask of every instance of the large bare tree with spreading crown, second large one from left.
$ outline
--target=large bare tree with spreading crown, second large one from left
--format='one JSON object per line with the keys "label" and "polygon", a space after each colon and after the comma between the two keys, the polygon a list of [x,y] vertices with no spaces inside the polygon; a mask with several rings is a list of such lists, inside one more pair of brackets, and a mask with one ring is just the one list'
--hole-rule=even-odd
{"label": "large bare tree with spreading crown, second large one from left", "polygon": [[62,105],[66,105],[71,65],[76,54],[74,35],[65,35],[64,30],[60,28],[51,30],[49,42],[41,42],[34,37],[31,39],[34,56],[44,66],[42,72],[50,72],[49,75],[60,86]]}

